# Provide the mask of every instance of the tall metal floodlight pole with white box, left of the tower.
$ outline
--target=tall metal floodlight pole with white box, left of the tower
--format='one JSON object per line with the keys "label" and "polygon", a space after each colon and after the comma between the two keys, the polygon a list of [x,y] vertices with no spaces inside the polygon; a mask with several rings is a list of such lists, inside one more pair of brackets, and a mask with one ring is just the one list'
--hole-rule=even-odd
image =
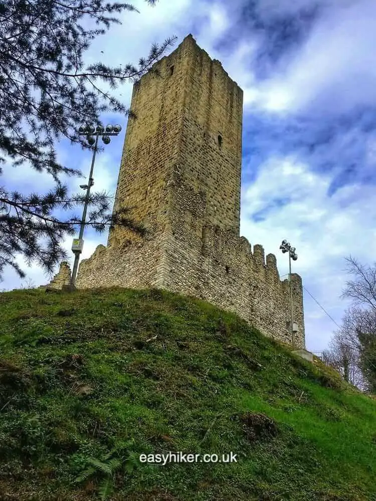
{"label": "tall metal floodlight pole with white box, left of the tower", "polygon": [[[80,254],[82,253],[82,249],[84,246],[84,240],[82,238],[84,236],[84,229],[85,229],[85,222],[86,222],[87,206],[89,203],[90,188],[94,184],[93,170],[94,170],[95,155],[96,155],[97,147],[98,147],[98,138],[99,138],[99,136],[102,136],[102,140],[103,140],[104,144],[109,144],[109,142],[111,141],[109,136],[117,136],[120,131],[121,131],[120,125],[107,125],[106,129],[102,125],[98,125],[97,127],[94,127],[93,125],[87,125],[86,127],[80,127],[78,129],[79,135],[86,136],[88,143],[91,146],[94,145],[94,150],[93,150],[93,158],[92,158],[91,167],[90,167],[89,182],[88,182],[88,184],[80,184],[80,188],[86,189],[86,196],[85,196],[84,210],[82,212],[82,219],[81,219],[81,223],[80,223],[80,234],[79,234],[78,238],[73,239],[73,244],[72,244],[72,251],[75,255],[73,270],[72,270],[72,277],[71,277],[71,286],[73,286],[73,287],[76,283],[78,263],[80,261]],[[95,139],[93,136],[95,136]]]}

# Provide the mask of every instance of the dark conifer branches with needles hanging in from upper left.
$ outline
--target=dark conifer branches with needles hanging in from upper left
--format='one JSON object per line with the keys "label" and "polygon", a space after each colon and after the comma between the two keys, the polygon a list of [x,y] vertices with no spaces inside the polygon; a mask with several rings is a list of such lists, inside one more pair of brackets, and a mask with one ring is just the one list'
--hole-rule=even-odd
{"label": "dark conifer branches with needles hanging in from upper left", "polygon": [[[157,0],[148,0],[153,6]],[[91,42],[121,23],[129,4],[103,0],[7,0],[0,2],[0,176],[4,169],[29,163],[55,181],[48,193],[24,194],[1,185],[0,177],[0,279],[6,266],[24,277],[16,262],[22,254],[49,273],[66,253],[62,239],[74,234],[79,217],[58,217],[84,202],[85,195],[70,195],[63,176],[79,175],[72,165],[61,165],[56,143],[67,138],[90,149],[78,136],[85,123],[102,124],[104,113],[127,115],[130,111],[101,84],[110,89],[137,81],[174,38],[153,44],[138,65],[103,63],[86,66]],[[111,198],[93,193],[87,224],[97,231],[121,224],[142,232],[142,226],[123,209],[111,214]]]}

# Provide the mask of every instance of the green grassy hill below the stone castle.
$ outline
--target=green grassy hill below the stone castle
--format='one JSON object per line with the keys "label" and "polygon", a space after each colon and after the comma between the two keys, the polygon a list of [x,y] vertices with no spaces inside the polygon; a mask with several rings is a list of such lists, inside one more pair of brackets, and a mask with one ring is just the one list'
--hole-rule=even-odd
{"label": "green grassy hill below the stone castle", "polygon": [[[29,290],[0,319],[2,500],[376,499],[376,401],[235,315]],[[139,460],[169,451],[237,462]]]}

